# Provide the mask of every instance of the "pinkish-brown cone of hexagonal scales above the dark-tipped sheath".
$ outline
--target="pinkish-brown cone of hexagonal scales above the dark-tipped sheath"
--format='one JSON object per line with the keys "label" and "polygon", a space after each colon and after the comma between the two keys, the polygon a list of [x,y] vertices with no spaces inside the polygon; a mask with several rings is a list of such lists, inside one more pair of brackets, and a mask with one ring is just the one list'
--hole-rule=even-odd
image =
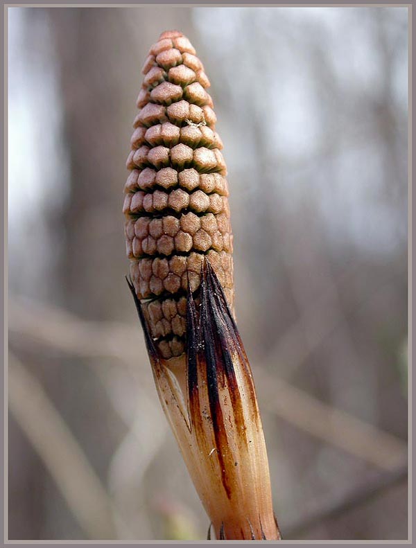
{"label": "pinkish-brown cone of hexagonal scales above the dark-tipped sheath", "polygon": [[234,305],[223,145],[195,53],[177,31],[150,48],[124,189],[130,276],[165,359],[184,353],[188,285],[193,292],[200,287],[204,256]]}

